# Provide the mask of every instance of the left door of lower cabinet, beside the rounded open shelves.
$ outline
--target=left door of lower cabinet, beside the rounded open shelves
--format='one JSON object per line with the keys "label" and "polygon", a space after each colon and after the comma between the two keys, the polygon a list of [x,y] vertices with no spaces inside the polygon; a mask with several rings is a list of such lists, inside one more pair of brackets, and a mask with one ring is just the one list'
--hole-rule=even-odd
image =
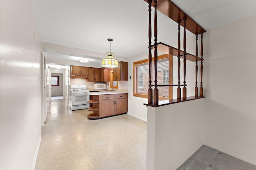
{"label": "left door of lower cabinet, beside the rounded open shelves", "polygon": [[111,116],[115,114],[115,100],[100,100],[100,117]]}

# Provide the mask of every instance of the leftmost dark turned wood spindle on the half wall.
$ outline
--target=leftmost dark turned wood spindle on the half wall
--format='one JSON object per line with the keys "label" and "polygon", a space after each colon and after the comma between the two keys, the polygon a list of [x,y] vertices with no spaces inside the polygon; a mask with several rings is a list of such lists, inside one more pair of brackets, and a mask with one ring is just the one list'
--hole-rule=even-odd
{"label": "leftmost dark turned wood spindle on the half wall", "polygon": [[151,37],[152,37],[152,28],[151,28],[151,3],[152,0],[148,0],[148,12],[149,12],[149,21],[148,21],[148,67],[149,67],[149,89],[148,89],[148,104],[153,104],[153,90],[151,88],[151,73],[152,73],[152,53],[151,53]]}

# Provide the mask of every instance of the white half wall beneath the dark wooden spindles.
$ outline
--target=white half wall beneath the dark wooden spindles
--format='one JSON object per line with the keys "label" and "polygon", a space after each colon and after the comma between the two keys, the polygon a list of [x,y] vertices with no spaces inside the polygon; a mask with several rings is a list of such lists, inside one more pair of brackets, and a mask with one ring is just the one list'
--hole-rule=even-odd
{"label": "white half wall beneath the dark wooden spindles", "polygon": [[148,107],[147,170],[176,170],[203,145],[204,99]]}

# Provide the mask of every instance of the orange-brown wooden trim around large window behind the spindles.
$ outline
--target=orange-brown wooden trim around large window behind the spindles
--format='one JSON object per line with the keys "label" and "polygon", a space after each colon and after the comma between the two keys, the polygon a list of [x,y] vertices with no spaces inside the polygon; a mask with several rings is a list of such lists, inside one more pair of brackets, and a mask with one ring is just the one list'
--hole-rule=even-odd
{"label": "orange-brown wooden trim around large window behind the spindles", "polygon": [[[170,78],[170,75],[172,76],[172,69],[173,69],[172,68],[172,55],[164,54],[164,55],[158,56],[157,58],[158,58],[158,60],[169,58],[169,84],[172,84],[172,77]],[[154,57],[152,57],[152,61],[154,61]],[[148,98],[148,94],[136,93],[136,86],[135,86],[136,83],[135,82],[137,82],[137,79],[138,79],[137,78],[138,70],[136,70],[136,72],[135,72],[135,66],[138,64],[143,64],[143,63],[148,63],[148,59],[136,61],[133,63],[133,96],[139,97],[139,98]],[[152,84],[154,84],[154,80],[152,80]],[[152,88],[154,88],[154,87],[152,87]],[[167,100],[167,98],[162,97],[162,96],[159,96],[158,98],[159,98],[159,100]],[[172,99],[172,87],[169,87],[168,99]]]}

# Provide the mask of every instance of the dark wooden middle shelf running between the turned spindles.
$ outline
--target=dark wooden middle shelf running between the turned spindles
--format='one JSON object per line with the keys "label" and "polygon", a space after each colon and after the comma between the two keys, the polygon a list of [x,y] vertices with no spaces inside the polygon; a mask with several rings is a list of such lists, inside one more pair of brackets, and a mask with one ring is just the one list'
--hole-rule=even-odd
{"label": "dark wooden middle shelf running between the turned spindles", "polygon": [[[152,49],[154,49],[153,45],[152,45]],[[170,54],[170,55],[173,55],[173,56],[178,56],[179,55],[179,50],[178,49],[176,49],[176,48],[174,48],[170,45],[161,43],[161,42],[157,43],[157,51],[161,51],[162,53]],[[181,59],[184,59],[183,54],[184,54],[184,51],[180,50],[180,58]],[[197,59],[197,61],[201,61],[200,57],[196,57],[195,55],[192,55],[190,53],[186,53],[186,60],[195,62],[196,59]]]}

